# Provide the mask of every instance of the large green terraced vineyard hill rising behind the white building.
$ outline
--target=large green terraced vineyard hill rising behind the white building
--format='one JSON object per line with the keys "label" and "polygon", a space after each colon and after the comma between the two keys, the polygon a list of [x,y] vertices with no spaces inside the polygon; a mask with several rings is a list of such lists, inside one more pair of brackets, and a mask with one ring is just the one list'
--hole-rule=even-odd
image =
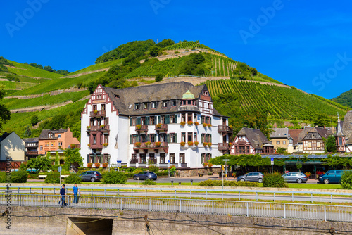
{"label": "large green terraced vineyard hill rising behind the white building", "polygon": [[[97,84],[123,88],[155,82],[157,76],[163,82],[172,82],[187,75],[195,76],[199,83],[210,80],[207,84],[215,101],[215,96],[227,94],[227,102],[232,99],[242,112],[256,110],[275,122],[313,122],[319,114],[336,122],[337,112],[343,116],[348,110],[334,101],[282,86],[282,82],[256,68],[198,41],[175,44],[165,39],[156,44],[149,39],[120,45],[97,58],[94,65],[64,76],[0,58],[0,86],[6,91],[6,98],[0,103],[12,112],[4,131],[25,137],[30,130],[33,137],[39,136],[42,129],[70,127],[74,136],[80,138],[80,113]],[[225,109],[217,108],[229,115]]]}

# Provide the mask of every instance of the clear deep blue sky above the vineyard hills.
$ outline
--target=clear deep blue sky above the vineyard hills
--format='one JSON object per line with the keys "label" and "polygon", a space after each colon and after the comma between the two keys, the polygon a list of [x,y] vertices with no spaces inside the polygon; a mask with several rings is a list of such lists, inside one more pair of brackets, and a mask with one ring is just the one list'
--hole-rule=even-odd
{"label": "clear deep blue sky above the vineyard hills", "polygon": [[134,40],[199,40],[327,99],[352,88],[352,2],[3,1],[0,56],[73,72]]}

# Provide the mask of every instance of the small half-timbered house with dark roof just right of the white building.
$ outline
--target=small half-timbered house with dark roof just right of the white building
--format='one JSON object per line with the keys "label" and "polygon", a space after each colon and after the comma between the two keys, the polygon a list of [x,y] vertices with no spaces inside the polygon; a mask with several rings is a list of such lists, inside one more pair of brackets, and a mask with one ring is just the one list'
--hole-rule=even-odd
{"label": "small half-timbered house with dark roof just right of the white building", "polygon": [[237,133],[230,147],[230,154],[272,154],[274,146],[260,129],[243,127]]}

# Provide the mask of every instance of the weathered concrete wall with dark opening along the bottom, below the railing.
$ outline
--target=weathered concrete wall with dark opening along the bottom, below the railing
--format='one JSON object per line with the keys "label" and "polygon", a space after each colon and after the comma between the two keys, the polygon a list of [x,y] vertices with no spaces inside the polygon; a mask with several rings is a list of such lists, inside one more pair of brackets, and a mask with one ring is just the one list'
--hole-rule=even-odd
{"label": "weathered concrete wall with dark opening along the bottom, below the railing", "polygon": [[[5,207],[0,207],[5,210]],[[74,234],[72,229],[96,231],[102,224],[109,224],[113,219],[112,234],[328,234],[330,227],[339,230],[338,234],[351,234],[352,223],[324,222],[314,220],[289,220],[259,217],[236,217],[229,215],[193,215],[165,212],[140,212],[120,210],[63,209],[63,208],[11,208],[11,230],[6,229],[1,218],[0,234]],[[17,217],[17,216],[20,217]],[[29,215],[31,217],[24,217]],[[55,216],[52,216],[55,215]],[[75,224],[75,222],[86,222]],[[101,220],[89,222],[92,219]],[[145,219],[146,218],[146,219]],[[106,227],[106,225],[104,225]],[[343,231],[349,231],[343,232]],[[84,233],[75,233],[84,234]],[[91,233],[86,233],[91,234]],[[94,233],[95,234],[95,233]],[[105,234],[105,233],[104,233]]]}

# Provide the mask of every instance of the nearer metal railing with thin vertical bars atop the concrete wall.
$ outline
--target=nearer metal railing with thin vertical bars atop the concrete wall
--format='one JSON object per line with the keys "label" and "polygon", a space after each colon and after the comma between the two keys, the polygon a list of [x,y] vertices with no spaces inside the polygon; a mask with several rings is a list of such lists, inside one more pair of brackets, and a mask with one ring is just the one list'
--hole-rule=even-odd
{"label": "nearer metal railing with thin vertical bars atop the concrete wall", "polygon": [[[142,210],[154,212],[182,212],[203,215],[235,215],[245,217],[276,217],[299,220],[352,222],[352,207],[343,205],[312,205],[295,203],[261,203],[249,201],[215,201],[170,198],[130,198],[110,196],[66,196],[68,208],[109,210]],[[0,196],[0,205],[58,208],[58,195]]]}

